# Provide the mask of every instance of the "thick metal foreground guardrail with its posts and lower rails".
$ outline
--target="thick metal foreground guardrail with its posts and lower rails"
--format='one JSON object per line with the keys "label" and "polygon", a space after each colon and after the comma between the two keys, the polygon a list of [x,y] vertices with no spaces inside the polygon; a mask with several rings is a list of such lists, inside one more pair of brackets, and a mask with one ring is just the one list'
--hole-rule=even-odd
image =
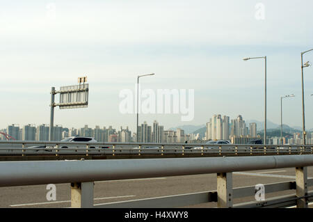
{"label": "thick metal foreground guardrail with its posts and lower rails", "polygon": [[[313,179],[307,178],[313,155],[262,157],[203,157],[172,159],[109,159],[75,161],[2,161],[0,187],[37,184],[71,184],[71,207],[182,207],[217,202],[218,207],[307,207],[313,200]],[[294,189],[296,193],[264,201],[233,205],[234,198],[254,196],[255,187],[233,189],[232,172],[273,168],[296,168],[296,181],[266,184],[266,193]],[[125,180],[216,173],[216,191],[128,200],[94,205],[95,181]]]}

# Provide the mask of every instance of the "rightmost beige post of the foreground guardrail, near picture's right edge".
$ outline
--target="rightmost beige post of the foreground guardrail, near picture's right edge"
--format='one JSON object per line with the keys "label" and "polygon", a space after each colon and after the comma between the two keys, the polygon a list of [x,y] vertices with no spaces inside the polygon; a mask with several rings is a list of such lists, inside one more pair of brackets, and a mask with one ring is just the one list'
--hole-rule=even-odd
{"label": "rightmost beige post of the foreground guardrail, near picture's right edge", "polygon": [[[307,166],[296,167],[296,196],[307,196]],[[297,200],[297,208],[307,208],[307,198]]]}

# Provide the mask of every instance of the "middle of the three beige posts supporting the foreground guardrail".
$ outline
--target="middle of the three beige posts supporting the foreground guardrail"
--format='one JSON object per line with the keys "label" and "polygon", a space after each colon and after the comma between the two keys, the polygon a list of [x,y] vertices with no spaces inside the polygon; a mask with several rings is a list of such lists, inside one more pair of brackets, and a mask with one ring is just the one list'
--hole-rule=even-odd
{"label": "middle of the three beige posts supporting the foreground guardrail", "polygon": [[218,207],[232,207],[232,173],[217,174]]}

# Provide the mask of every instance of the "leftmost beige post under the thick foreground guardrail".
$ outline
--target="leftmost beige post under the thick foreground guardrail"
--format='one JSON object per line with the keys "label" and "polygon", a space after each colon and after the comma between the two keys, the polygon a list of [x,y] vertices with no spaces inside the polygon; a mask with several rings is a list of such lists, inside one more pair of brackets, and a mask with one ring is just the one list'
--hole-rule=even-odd
{"label": "leftmost beige post under the thick foreground guardrail", "polygon": [[93,208],[94,182],[74,182],[71,184],[71,207]]}

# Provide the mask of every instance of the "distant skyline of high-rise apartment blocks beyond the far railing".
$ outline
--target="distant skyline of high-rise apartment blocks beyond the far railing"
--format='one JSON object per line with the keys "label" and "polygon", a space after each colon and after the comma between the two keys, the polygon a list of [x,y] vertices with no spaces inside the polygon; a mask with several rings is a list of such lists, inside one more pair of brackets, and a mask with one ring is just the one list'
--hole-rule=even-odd
{"label": "distant skyline of high-rise apartment blocks beyond the far railing", "polygon": [[[249,127],[247,127],[249,125]],[[138,127],[140,143],[201,143],[201,141],[218,141],[227,140],[233,144],[248,144],[251,140],[262,139],[257,134],[257,123],[246,123],[241,115],[235,119],[230,120],[229,116],[222,116],[216,114],[212,116],[207,122],[205,135],[201,135],[198,130],[193,133],[186,133],[184,129],[168,129],[164,130],[162,125],[159,125],[157,120],[154,120],[152,125],[148,125],[146,121]],[[38,125],[37,127],[32,124],[24,125],[19,128],[19,125],[9,125],[6,129],[0,129],[0,132],[8,133],[12,139],[23,141],[47,141],[49,138],[49,125]],[[88,136],[95,138],[98,142],[109,143],[128,143],[136,142],[136,132],[131,132],[129,127],[120,130],[109,127],[95,126],[80,127],[79,129],[62,127],[56,125],[54,127],[54,141],[61,141],[63,138],[69,136]],[[5,140],[6,136],[0,135],[0,140]],[[301,144],[302,135],[299,132],[294,132],[293,135],[283,136],[282,141],[284,144]],[[308,132],[307,143],[313,143],[313,132]],[[267,143],[277,145],[280,144],[280,136],[268,136]]]}

